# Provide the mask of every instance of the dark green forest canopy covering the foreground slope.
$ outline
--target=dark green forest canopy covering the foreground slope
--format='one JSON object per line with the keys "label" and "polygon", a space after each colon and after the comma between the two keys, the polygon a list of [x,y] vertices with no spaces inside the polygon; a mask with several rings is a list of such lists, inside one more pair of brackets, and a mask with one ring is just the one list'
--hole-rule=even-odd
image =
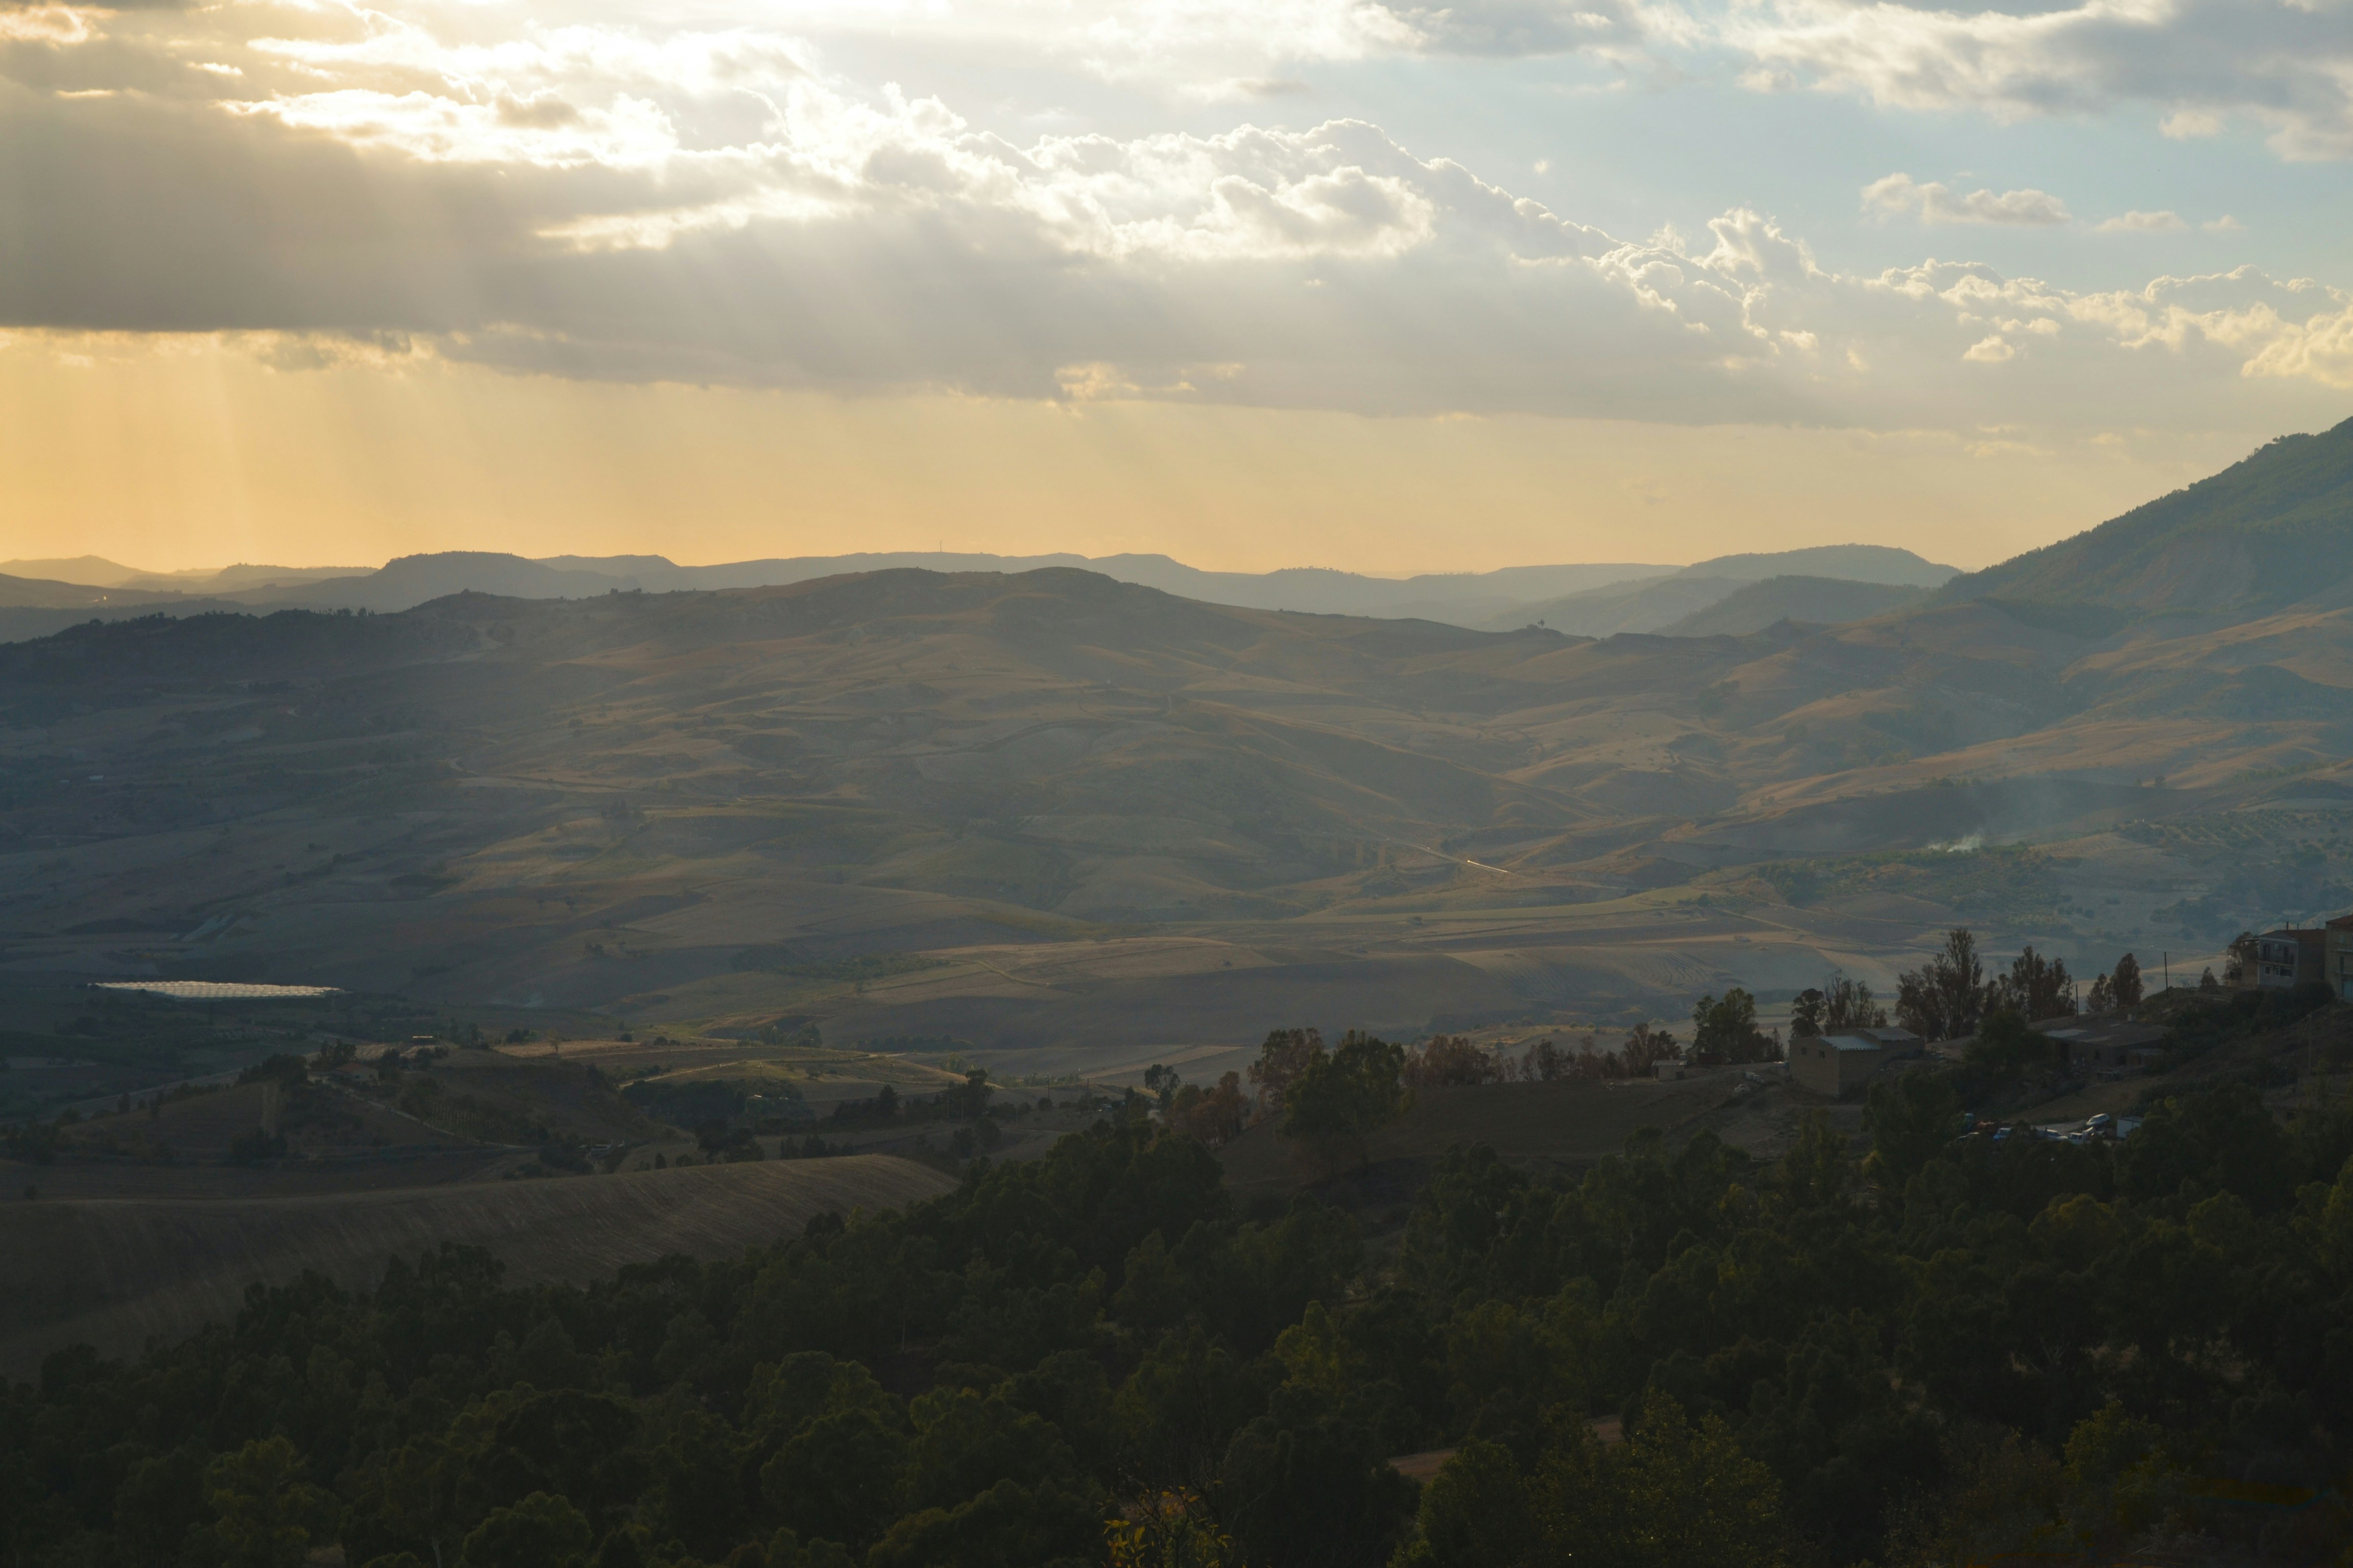
{"label": "dark green forest canopy covering the foreground slope", "polygon": [[[1393,1048],[1391,1048],[1393,1051]],[[1339,1053],[1287,1091],[1379,1114]],[[1346,1065],[1362,1077],[1369,1046]],[[1395,1063],[1379,1063],[1391,1070]],[[1595,1091],[1602,1093],[1602,1091]],[[1374,1095],[1379,1100],[1379,1095]],[[1332,1107],[1313,1110],[1315,1117]],[[9,1563],[1849,1568],[2348,1533],[2353,1117],[1779,1161],[1480,1147],[1402,1232],[1141,1114],[906,1211],[506,1288],[442,1248],[5,1394]],[[1452,1450],[1417,1483],[1395,1455]],[[2092,1561],[2092,1559],[2082,1559]]]}

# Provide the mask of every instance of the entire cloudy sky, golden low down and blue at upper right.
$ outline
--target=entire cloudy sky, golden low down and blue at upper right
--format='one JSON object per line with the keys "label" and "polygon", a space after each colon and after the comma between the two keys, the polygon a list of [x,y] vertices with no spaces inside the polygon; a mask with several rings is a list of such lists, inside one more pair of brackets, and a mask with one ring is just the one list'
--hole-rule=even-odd
{"label": "entire cloudy sky, golden low down and blue at upper right", "polygon": [[0,0],[0,557],[1981,567],[2353,416],[2353,0]]}

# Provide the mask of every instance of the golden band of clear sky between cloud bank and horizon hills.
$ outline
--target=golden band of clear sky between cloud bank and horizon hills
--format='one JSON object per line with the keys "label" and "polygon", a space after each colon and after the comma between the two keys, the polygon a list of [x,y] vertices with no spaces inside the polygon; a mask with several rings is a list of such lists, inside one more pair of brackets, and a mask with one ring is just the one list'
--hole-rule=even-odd
{"label": "golden band of clear sky between cloud bank and horizon hills", "polygon": [[[299,348],[299,346],[296,346]],[[256,353],[259,350],[259,353]],[[624,386],[287,346],[0,348],[5,555],[1165,552],[1461,571],[1871,541],[1979,567],[2245,456],[2212,437],[1372,418]]]}

